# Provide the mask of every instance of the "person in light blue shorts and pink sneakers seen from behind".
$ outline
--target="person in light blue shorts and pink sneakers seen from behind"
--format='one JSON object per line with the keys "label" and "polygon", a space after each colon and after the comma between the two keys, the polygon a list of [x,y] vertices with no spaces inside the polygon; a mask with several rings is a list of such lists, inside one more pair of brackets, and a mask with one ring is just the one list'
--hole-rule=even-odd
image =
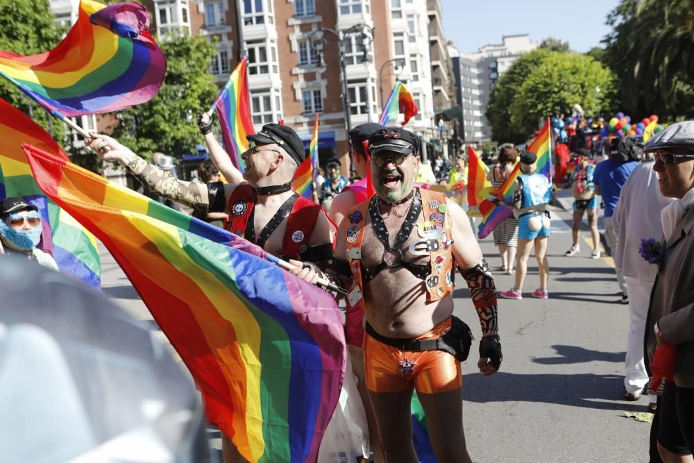
{"label": "person in light blue shorts and pink sneakers seen from behind", "polygon": [[527,273],[527,260],[532,245],[535,245],[535,258],[540,273],[540,287],[533,297],[548,298],[547,244],[550,236],[550,212],[546,210],[552,199],[552,184],[543,174],[536,173],[537,155],[530,151],[521,153],[521,175],[516,180],[514,215],[518,218],[518,253],[516,254],[516,285],[501,296],[509,299],[522,299],[521,287]]}

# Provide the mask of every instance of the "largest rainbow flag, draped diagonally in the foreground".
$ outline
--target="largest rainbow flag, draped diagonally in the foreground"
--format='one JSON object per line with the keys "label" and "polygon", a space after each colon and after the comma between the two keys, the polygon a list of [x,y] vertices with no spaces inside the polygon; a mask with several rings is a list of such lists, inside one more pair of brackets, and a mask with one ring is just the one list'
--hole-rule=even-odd
{"label": "largest rainbow flag, draped diagonally in the foreground", "polygon": [[117,260],[250,462],[315,462],[344,377],[335,300],[226,230],[24,145],[37,184]]}

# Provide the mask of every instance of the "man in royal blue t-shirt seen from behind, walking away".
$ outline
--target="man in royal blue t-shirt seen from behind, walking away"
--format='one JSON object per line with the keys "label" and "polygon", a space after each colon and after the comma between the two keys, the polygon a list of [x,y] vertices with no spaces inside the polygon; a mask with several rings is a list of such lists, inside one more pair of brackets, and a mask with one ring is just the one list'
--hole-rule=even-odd
{"label": "man in royal blue t-shirt seen from behind, walking away", "polygon": [[[619,194],[622,187],[627,183],[627,178],[632,174],[638,159],[643,155],[643,149],[636,145],[634,140],[629,138],[613,138],[608,146],[605,147],[609,159],[604,160],[595,167],[593,181],[595,182],[595,194],[602,195],[604,201],[604,227],[605,241],[609,247],[611,256],[617,254],[617,235],[612,224],[612,214],[617,207]],[[622,290],[622,303],[629,302],[627,295],[627,285],[622,276],[622,268],[615,261],[614,266],[617,273],[617,283]]]}

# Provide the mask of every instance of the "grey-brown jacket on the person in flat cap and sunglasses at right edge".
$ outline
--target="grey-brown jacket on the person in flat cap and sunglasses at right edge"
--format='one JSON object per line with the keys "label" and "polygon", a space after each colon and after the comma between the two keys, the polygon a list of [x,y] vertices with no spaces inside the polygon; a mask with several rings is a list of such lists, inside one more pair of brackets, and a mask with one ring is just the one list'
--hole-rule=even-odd
{"label": "grey-brown jacket on the person in flat cap and sunglasses at right edge", "polygon": [[658,323],[666,341],[679,347],[675,384],[694,387],[694,208],[686,212],[678,228],[679,237],[666,242],[651,292],[645,358],[650,372],[656,347],[653,327]]}

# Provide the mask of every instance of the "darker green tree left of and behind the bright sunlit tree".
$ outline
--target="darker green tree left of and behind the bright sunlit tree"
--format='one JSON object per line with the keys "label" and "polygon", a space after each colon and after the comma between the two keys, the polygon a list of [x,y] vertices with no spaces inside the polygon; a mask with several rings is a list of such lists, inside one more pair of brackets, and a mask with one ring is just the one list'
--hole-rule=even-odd
{"label": "darker green tree left of and behind the bright sunlit tree", "polygon": [[511,126],[509,112],[518,90],[532,71],[550,56],[548,49],[537,49],[520,56],[507,71],[498,78],[489,95],[484,116],[491,124],[493,139],[514,144],[525,142],[527,132],[516,131]]}

